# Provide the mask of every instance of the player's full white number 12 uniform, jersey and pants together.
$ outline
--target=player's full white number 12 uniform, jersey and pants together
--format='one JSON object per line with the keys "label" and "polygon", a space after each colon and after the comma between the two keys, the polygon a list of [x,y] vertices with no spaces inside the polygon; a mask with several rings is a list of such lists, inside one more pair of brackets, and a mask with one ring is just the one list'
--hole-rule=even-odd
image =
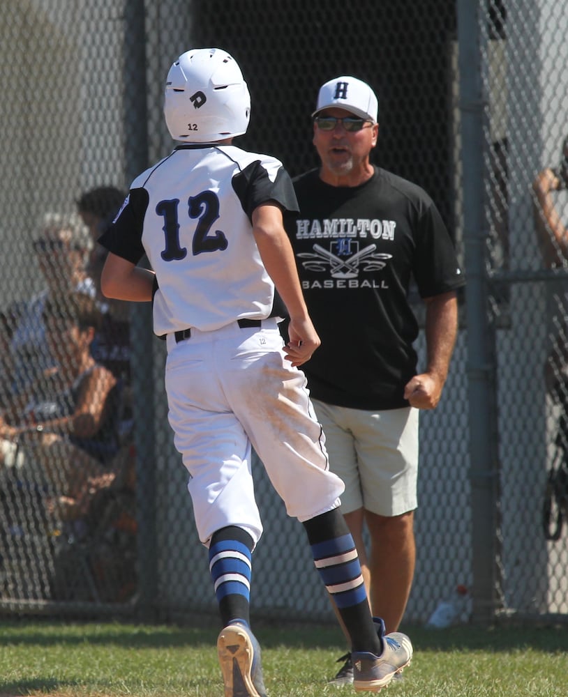
{"label": "player's full white number 12 uniform, jersey and pants together", "polygon": [[278,160],[234,146],[182,145],[135,179],[99,240],[132,263],[146,252],[156,271],[168,419],[206,545],[227,526],[244,528],[255,543],[262,534],[251,445],[300,521],[334,509],[344,489],[329,470],[306,377],[269,319],[274,284],[251,225],[253,210],[268,201],[297,210]]}

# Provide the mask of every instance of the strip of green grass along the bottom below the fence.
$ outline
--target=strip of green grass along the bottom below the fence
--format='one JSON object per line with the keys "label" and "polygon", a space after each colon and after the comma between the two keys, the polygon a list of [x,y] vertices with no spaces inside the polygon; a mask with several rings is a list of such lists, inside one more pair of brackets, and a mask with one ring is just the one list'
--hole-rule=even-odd
{"label": "strip of green grass along the bottom below the fence", "polygon": [[[405,628],[403,628],[405,629]],[[0,622],[0,697],[223,697],[217,627]],[[568,628],[407,627],[414,661],[384,697],[566,697]],[[270,697],[327,687],[344,652],[336,627],[255,627]]]}

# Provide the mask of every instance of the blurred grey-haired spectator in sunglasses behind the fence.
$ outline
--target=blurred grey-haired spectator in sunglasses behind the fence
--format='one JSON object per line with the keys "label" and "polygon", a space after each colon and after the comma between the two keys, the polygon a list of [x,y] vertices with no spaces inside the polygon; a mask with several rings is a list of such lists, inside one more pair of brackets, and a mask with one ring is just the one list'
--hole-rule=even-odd
{"label": "blurred grey-haired spectator in sunglasses behind the fence", "polygon": [[71,291],[95,296],[94,281],[84,266],[91,247],[89,231],[76,214],[45,215],[40,235],[33,241],[45,288],[30,300],[10,305],[1,314],[2,402],[54,365],[43,323],[47,298],[64,298]]}

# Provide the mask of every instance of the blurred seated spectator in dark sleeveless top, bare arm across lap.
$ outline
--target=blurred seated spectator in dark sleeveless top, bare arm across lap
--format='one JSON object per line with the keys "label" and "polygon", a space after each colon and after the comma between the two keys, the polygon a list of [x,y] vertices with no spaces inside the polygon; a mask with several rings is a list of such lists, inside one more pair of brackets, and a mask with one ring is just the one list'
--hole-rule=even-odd
{"label": "blurred seated spectator in dark sleeveless top, bare arm across lap", "polygon": [[57,364],[7,405],[0,467],[17,466],[25,479],[33,463],[54,493],[73,498],[107,472],[118,451],[117,379],[91,356],[100,323],[94,298],[49,298],[43,321]]}

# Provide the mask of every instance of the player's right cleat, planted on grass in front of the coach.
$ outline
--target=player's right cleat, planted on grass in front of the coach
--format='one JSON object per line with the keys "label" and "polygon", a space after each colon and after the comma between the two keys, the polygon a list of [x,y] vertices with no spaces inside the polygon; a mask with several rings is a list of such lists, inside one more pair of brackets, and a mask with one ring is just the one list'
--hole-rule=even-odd
{"label": "player's right cleat, planted on grass in front of the coach", "polygon": [[393,631],[384,634],[384,623],[373,618],[378,625],[378,634],[382,642],[380,656],[368,652],[353,652],[353,686],[356,692],[378,692],[402,673],[412,661],[412,643],[406,634]]}

